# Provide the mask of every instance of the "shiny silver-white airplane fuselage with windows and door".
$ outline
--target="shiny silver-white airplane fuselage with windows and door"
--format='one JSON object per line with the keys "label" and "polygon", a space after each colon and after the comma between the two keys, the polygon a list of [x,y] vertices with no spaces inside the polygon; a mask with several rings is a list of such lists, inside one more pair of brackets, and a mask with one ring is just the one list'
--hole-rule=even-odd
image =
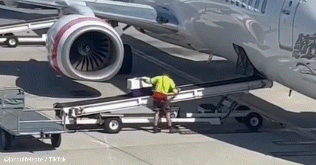
{"label": "shiny silver-white airplane fuselage with windows and door", "polygon": [[[243,48],[267,78],[316,98],[316,1],[156,1],[174,13],[179,32],[150,36],[237,62]],[[153,5],[153,4],[151,4]]]}

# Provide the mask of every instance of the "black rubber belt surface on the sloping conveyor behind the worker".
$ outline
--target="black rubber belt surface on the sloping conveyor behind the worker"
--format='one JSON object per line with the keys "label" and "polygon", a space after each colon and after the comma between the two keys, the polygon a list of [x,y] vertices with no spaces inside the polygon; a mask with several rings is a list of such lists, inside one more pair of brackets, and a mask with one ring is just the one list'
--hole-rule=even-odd
{"label": "black rubber belt surface on the sloping conveyor behind the worker", "polygon": [[[235,84],[235,83],[241,83],[241,82],[250,82],[250,81],[256,81],[256,80],[264,80],[264,78],[259,77],[259,76],[241,77],[241,78],[229,79],[229,80],[223,80],[223,81],[181,85],[181,86],[178,86],[178,88],[180,88],[181,91],[185,91],[185,90],[191,90],[191,89],[197,89],[197,88],[210,88],[210,87],[215,87],[215,86],[229,85],[229,84]],[[145,96],[149,96],[149,95],[145,95]],[[83,100],[83,101],[75,101],[75,102],[67,102],[67,103],[55,103],[54,108],[92,105],[92,104],[131,99],[131,98],[135,98],[135,97],[133,97],[132,94],[130,93],[130,94],[119,95],[119,96],[108,97],[108,98],[91,99],[91,100]]]}

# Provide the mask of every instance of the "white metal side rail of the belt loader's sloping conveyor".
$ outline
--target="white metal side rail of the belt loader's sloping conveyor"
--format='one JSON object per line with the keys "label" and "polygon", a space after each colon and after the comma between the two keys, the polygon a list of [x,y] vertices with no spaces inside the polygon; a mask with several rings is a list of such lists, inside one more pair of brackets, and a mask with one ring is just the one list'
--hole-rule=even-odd
{"label": "white metal side rail of the belt loader's sloping conveyor", "polygon": [[[187,100],[195,100],[213,97],[223,94],[234,94],[241,91],[248,91],[257,88],[271,87],[272,82],[270,80],[256,80],[251,82],[240,82],[228,85],[220,85],[206,88],[197,88],[191,90],[180,91],[175,97],[173,97],[170,102],[180,102]],[[146,106],[150,103],[150,96],[142,96],[124,100],[115,100],[109,102],[101,102],[90,105],[82,105],[78,107],[69,107],[79,109],[77,116],[83,116],[88,114],[94,114],[104,111],[117,111],[128,109],[137,106]]]}

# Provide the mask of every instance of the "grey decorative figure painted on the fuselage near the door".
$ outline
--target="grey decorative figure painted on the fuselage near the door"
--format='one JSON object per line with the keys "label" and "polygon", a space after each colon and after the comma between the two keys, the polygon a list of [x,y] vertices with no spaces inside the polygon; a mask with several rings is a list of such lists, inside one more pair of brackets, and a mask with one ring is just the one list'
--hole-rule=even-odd
{"label": "grey decorative figure painted on the fuselage near the door", "polygon": [[300,73],[316,76],[316,33],[300,34],[294,45],[292,57],[301,59],[301,62],[295,65]]}

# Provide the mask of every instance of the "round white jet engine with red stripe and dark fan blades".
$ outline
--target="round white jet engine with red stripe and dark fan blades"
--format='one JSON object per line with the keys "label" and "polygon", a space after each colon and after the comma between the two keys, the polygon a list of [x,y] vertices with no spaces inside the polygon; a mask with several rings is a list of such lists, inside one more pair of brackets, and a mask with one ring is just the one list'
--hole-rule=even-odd
{"label": "round white jet engine with red stripe and dark fan blades", "polygon": [[48,60],[67,77],[105,81],[120,70],[124,47],[119,34],[105,21],[91,16],[68,15],[47,33]]}

